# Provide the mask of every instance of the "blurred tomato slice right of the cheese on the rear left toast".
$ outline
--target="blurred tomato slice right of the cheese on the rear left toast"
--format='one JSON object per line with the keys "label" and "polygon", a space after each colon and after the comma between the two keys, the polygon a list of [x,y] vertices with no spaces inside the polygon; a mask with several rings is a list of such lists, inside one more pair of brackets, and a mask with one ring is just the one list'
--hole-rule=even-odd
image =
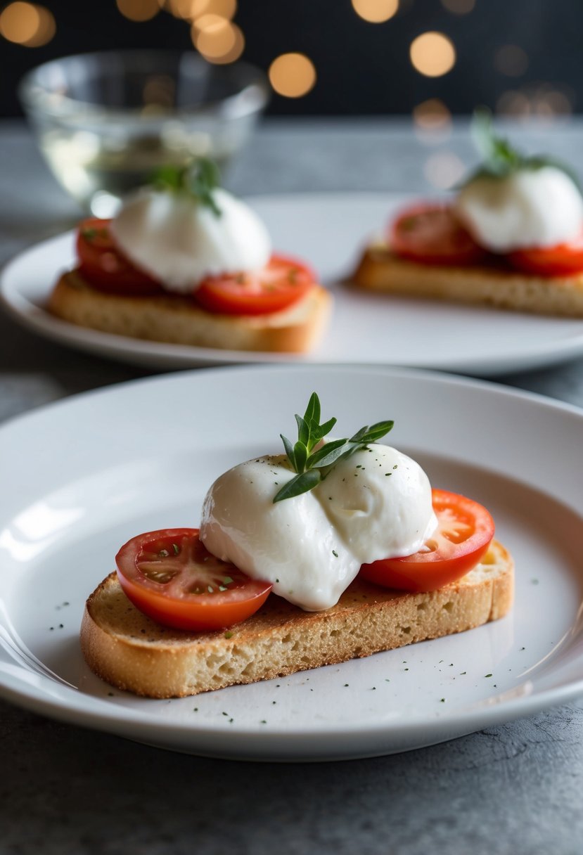
{"label": "blurred tomato slice right of the cheese on the rear left toast", "polygon": [[223,315],[268,315],[296,303],[314,283],[303,262],[274,255],[259,273],[209,276],[195,298],[203,309]]}

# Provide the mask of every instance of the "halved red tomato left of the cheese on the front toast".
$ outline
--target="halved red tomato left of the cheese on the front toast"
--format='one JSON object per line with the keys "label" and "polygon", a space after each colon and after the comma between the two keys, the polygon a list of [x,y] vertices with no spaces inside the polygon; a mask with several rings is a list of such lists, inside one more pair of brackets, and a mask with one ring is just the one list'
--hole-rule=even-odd
{"label": "halved red tomato left of the cheese on the front toast", "polygon": [[138,534],[121,547],[115,562],[127,598],[144,615],[197,632],[244,621],[272,587],[211,555],[197,528]]}

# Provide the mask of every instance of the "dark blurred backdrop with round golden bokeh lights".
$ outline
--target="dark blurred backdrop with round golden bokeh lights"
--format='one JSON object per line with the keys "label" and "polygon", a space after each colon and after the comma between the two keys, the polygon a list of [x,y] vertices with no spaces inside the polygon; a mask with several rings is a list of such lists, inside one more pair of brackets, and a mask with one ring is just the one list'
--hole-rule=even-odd
{"label": "dark blurred backdrop with round golden bokeh lights", "polygon": [[19,0],[0,7],[0,110],[21,115],[40,62],[171,47],[271,70],[271,115],[552,118],[581,111],[581,32],[580,0]]}

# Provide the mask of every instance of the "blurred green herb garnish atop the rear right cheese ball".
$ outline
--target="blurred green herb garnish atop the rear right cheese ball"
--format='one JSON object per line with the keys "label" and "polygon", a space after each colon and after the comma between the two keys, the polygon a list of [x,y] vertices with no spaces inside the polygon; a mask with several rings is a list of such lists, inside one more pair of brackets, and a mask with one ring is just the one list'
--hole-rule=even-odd
{"label": "blurred green herb garnish atop the rear right cheese ball", "polygon": [[547,155],[524,155],[516,150],[507,139],[499,137],[494,133],[492,127],[492,113],[485,107],[480,107],[474,112],[471,126],[474,144],[483,158],[480,167],[462,182],[462,186],[468,185],[476,178],[507,178],[518,172],[519,169],[542,169],[545,166],[553,166],[574,182],[579,190],[580,180],[577,174],[557,158]]}

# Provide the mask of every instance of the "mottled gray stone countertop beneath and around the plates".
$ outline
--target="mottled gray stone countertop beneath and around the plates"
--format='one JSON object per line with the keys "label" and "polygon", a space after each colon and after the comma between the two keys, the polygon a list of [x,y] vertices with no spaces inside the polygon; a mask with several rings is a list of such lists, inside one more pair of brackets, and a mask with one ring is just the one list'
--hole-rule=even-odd
{"label": "mottled gray stone countertop beneath and around the plates", "polygon": [[[513,128],[583,172],[583,124]],[[405,121],[270,121],[228,177],[238,193],[427,192],[427,158],[474,160]],[[0,263],[72,227],[79,209],[18,121],[0,123]],[[151,372],[70,351],[0,314],[0,422]],[[583,359],[495,380],[583,406]],[[3,489],[9,485],[3,484]],[[333,764],[189,757],[0,701],[0,855],[583,851],[580,702],[439,746]]]}

